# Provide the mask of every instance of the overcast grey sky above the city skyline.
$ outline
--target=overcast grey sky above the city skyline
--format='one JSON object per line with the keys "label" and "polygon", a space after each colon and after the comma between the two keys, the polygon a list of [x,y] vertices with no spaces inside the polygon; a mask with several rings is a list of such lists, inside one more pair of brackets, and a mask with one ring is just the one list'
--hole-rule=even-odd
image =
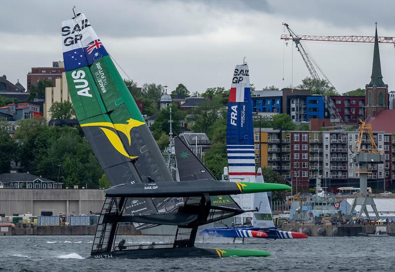
{"label": "overcast grey sky above the city skyline", "polygon": [[[26,87],[31,67],[62,60],[60,28],[73,5],[130,78],[167,84],[169,92],[178,83],[191,92],[230,88],[244,56],[257,89],[297,86],[310,74],[291,42],[280,40],[282,22],[296,34],[374,35],[377,21],[379,36],[395,36],[394,0],[0,0],[0,75]],[[305,45],[340,93],[369,83],[373,43]],[[380,44],[380,56],[383,81],[395,90],[394,45]]]}

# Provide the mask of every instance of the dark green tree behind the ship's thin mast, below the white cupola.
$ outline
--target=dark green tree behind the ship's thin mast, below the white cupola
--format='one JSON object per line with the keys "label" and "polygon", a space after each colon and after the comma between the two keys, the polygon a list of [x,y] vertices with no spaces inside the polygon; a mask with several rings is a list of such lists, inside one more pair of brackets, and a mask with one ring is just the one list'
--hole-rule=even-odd
{"label": "dark green tree behind the ship's thin mast, below the white cupola", "polygon": [[[180,120],[184,119],[183,112],[179,110],[177,105],[175,104],[171,105],[171,110],[172,110],[171,119],[173,121],[172,123],[173,135],[178,135],[181,132]],[[152,125],[153,135],[155,139],[158,140],[162,135],[162,132],[169,134],[170,131],[169,120],[170,120],[169,107],[159,111],[158,117],[155,119],[155,123]]]}

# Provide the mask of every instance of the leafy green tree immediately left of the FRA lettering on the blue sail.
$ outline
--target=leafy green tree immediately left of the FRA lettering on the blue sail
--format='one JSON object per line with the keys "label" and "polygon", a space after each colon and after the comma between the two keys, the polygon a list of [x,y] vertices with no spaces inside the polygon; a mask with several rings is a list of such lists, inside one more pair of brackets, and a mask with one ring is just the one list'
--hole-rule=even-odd
{"label": "leafy green tree immediately left of the FRA lettering on the blue sail", "polygon": [[208,134],[209,129],[220,116],[222,104],[215,99],[208,102],[201,102],[195,110],[195,120],[192,130]]}

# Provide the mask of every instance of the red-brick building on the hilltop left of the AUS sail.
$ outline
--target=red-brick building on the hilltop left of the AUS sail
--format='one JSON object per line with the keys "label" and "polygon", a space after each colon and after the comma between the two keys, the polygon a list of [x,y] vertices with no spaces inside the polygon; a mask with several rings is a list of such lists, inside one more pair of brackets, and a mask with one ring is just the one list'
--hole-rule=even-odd
{"label": "red-brick building on the hilltop left of the AUS sail", "polygon": [[52,62],[52,67],[32,67],[32,70],[27,74],[27,92],[30,86],[36,84],[39,79],[46,79],[52,81],[55,86],[56,79],[62,78],[62,73],[65,71],[64,63]]}

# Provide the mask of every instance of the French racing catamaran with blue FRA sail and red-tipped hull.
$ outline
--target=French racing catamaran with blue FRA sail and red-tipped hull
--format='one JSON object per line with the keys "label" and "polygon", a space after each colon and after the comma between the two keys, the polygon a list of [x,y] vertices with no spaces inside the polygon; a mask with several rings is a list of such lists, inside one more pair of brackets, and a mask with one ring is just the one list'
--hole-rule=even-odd
{"label": "French racing catamaran with blue FRA sail and red-tipped hull", "polygon": [[[233,73],[226,127],[231,182],[264,184],[261,168],[255,176],[252,121],[249,68],[247,64],[237,65]],[[267,194],[238,195],[234,199],[242,209],[250,212],[235,216],[232,227],[206,228],[200,231],[200,235],[231,238],[307,238],[302,233],[276,229]]]}

